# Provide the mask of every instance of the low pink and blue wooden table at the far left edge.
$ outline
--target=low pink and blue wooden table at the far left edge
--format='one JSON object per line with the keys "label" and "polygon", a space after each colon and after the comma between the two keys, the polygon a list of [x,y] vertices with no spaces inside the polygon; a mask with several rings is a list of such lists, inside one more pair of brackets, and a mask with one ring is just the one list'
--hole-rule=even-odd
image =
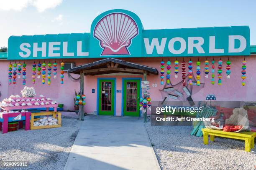
{"label": "low pink and blue wooden table at the far left edge", "polygon": [[[3,133],[8,133],[8,121],[9,118],[14,118],[18,115],[21,116],[25,116],[25,130],[29,130],[30,129],[30,116],[31,116],[31,112],[18,112],[18,113],[3,113],[0,114],[0,119],[3,119],[3,123],[0,122],[0,130],[2,130],[2,125],[3,125]],[[17,120],[18,121],[18,120]],[[19,121],[19,128],[23,128],[23,120]]]}

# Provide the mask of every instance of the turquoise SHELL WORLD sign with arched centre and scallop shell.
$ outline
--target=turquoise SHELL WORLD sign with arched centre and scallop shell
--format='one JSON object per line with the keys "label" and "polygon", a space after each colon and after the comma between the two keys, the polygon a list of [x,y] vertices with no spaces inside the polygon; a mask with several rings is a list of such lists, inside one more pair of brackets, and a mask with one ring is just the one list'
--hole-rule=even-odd
{"label": "turquoise SHELL WORLD sign with arched centre and scallop shell", "polygon": [[90,33],[11,36],[8,60],[250,55],[248,26],[144,30],[128,10],[97,16]]}

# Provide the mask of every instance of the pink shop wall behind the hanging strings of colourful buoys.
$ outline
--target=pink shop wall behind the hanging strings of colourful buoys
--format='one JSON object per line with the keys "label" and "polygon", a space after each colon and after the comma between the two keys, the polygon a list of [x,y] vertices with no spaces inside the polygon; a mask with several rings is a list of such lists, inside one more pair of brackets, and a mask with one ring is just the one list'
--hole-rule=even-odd
{"label": "pink shop wall behind the hanging strings of colourful buoys", "polygon": [[[256,95],[256,79],[254,67],[253,65],[256,65],[256,60],[254,59],[254,56],[246,57],[247,60],[247,69],[246,69],[246,86],[241,85],[241,62],[243,60],[243,56],[234,56],[230,57],[231,61],[231,74],[230,79],[228,80],[226,78],[225,74],[225,67],[226,67],[226,61],[228,60],[228,57],[222,57],[223,60],[223,78],[222,78],[222,85],[218,85],[218,77],[217,77],[217,69],[218,69],[218,60],[220,57],[215,57],[215,85],[211,84],[211,60],[212,57],[208,57],[209,60],[209,78],[205,78],[204,74],[204,61],[205,57],[200,57],[201,62],[201,82],[205,82],[205,86],[197,87],[193,86],[194,93],[192,94],[192,98],[195,101],[198,100],[205,100],[205,97],[208,94],[215,94],[217,100],[254,100]],[[100,59],[76,59],[71,60],[67,59],[64,60],[64,62],[75,62],[76,65],[82,65],[89,62],[93,62]],[[141,65],[147,65],[150,67],[155,67],[160,71],[160,62],[162,58],[160,57],[148,57],[148,58],[123,58],[123,60],[138,63]],[[168,60],[167,57],[164,58],[164,61],[166,62]],[[176,84],[177,82],[180,82],[182,80],[181,78],[181,62],[182,58],[178,58],[179,60],[179,74],[178,78],[174,78],[174,60],[175,58],[170,58],[172,64],[171,64],[171,82],[172,84]],[[185,61],[189,61],[189,57],[185,58]],[[197,61],[197,57],[192,57],[193,61],[193,72],[195,74],[195,62]],[[36,61],[38,62],[38,61]],[[41,61],[42,62],[42,61]],[[48,61],[47,61],[48,62]],[[54,61],[51,60],[51,63]],[[64,104],[65,110],[74,110],[74,103],[73,103],[73,96],[74,96],[74,90],[79,90],[79,81],[73,82],[70,80],[67,76],[67,73],[64,74],[64,84],[60,84],[60,74],[59,74],[59,63],[61,60],[57,60],[58,63],[58,75],[56,79],[52,78],[51,85],[43,85],[41,83],[41,80],[38,80],[36,78],[36,84],[33,85],[31,82],[31,68],[33,61],[26,61],[27,63],[27,79],[26,79],[26,86],[34,86],[37,95],[43,94],[46,97],[51,97],[52,99],[56,100],[59,103]],[[22,85],[22,79],[17,79],[16,85],[8,85],[8,61],[7,60],[0,60],[0,92],[2,93],[2,96],[0,97],[0,100],[3,100],[6,97],[9,97],[10,95],[20,95],[20,90],[23,89]],[[188,66],[188,64],[186,65]],[[186,69],[187,71],[188,69]],[[166,71],[166,70],[165,70]],[[79,75],[73,75],[74,77],[79,77]],[[87,104],[84,107],[84,110],[88,113],[96,111],[96,105],[97,105],[97,78],[98,77],[116,77],[116,90],[122,90],[122,77],[142,77],[143,76],[85,76],[84,80],[84,94],[87,96],[86,102]],[[156,100],[162,100],[162,95],[159,91],[159,89],[162,89],[163,86],[160,85],[160,75],[149,75],[148,80],[150,82],[150,93],[151,93],[151,99]],[[157,84],[157,87],[152,87],[152,84]],[[92,93],[92,89],[95,89],[95,93]],[[122,91],[123,92],[123,91]],[[195,93],[196,92],[196,93]],[[116,115],[121,115],[121,93],[116,93]]]}

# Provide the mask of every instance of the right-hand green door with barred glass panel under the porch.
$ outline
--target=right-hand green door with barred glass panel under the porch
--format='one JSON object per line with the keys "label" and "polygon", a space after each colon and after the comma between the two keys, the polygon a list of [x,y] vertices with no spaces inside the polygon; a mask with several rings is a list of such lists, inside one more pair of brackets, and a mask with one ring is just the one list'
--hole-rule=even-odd
{"label": "right-hand green door with barred glass panel under the porch", "polygon": [[140,80],[124,80],[123,84],[123,115],[140,116]]}

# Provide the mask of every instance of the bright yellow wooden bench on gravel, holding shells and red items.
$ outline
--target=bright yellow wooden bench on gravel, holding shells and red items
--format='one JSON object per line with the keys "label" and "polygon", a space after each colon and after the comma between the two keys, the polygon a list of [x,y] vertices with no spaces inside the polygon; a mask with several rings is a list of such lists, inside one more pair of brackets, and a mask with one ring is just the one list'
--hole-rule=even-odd
{"label": "bright yellow wooden bench on gravel, holding shells and red items", "polygon": [[240,139],[245,141],[245,151],[250,152],[251,148],[254,148],[254,138],[256,132],[225,132],[223,130],[212,130],[204,128],[202,129],[204,135],[204,144],[208,145],[208,135],[210,135],[210,140],[214,141],[215,136],[220,136],[224,138]]}

